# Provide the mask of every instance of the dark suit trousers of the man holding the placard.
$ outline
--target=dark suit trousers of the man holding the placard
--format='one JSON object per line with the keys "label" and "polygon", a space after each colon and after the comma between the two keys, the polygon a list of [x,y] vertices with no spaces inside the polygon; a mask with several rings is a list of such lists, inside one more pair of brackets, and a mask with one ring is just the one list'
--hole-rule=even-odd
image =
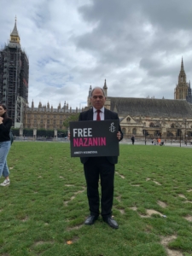
{"label": "dark suit trousers of the man holding the placard", "polygon": [[84,163],[84,176],[87,184],[90,214],[98,216],[100,213],[100,177],[102,188],[102,218],[110,217],[113,207],[114,165],[111,164],[106,157],[90,157],[89,160]]}

